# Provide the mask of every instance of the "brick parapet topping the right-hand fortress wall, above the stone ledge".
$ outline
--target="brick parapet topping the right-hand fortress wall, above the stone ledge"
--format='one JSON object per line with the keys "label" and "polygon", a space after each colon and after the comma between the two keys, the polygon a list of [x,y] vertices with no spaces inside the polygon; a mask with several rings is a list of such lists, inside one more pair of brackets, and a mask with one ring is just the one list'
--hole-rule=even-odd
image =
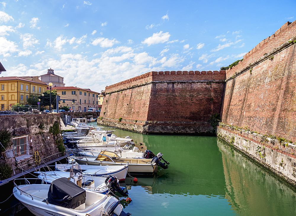
{"label": "brick parapet topping the right-hand fortress wall, above the stone ledge", "polygon": [[278,48],[285,42],[291,40],[296,36],[296,21],[286,22],[273,35],[262,40],[250,52],[244,55],[243,61],[238,65],[226,70],[226,77],[229,78],[243,68],[262,58],[264,55],[270,53],[272,50]]}

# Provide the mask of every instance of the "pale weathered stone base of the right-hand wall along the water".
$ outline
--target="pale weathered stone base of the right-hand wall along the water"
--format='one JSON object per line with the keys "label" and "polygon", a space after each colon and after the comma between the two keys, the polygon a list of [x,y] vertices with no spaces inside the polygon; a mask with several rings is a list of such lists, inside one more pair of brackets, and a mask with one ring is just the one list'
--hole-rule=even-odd
{"label": "pale weathered stone base of the right-hand wall along the water", "polygon": [[218,127],[217,136],[296,186],[296,145],[225,124]]}

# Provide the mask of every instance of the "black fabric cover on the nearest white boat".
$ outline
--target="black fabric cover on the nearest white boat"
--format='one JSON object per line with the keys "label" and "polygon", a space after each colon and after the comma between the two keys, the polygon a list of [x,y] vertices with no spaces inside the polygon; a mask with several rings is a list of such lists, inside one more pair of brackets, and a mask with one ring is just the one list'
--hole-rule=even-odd
{"label": "black fabric cover on the nearest white boat", "polygon": [[75,209],[85,203],[86,191],[63,177],[52,181],[47,198],[49,204]]}

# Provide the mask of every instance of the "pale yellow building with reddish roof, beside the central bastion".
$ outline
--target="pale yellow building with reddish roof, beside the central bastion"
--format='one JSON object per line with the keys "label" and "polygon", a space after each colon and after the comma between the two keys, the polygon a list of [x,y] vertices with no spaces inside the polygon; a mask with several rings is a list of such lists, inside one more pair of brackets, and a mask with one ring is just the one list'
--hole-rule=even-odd
{"label": "pale yellow building with reddish roof, beside the central bastion", "polygon": [[[57,90],[57,94],[60,96],[61,101],[59,103],[59,107],[66,106],[72,108],[73,110],[83,112],[86,112],[89,108],[94,108],[94,111],[96,111],[99,107],[98,99],[100,93],[98,92],[74,86],[52,87],[52,90],[54,89]],[[47,90],[49,90],[49,88]],[[73,100],[74,103],[72,104]]]}

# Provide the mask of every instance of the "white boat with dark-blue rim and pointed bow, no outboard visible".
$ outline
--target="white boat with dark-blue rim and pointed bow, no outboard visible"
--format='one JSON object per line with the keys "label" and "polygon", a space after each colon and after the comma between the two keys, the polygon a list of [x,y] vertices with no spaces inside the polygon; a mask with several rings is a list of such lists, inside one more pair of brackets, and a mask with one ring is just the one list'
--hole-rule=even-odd
{"label": "white boat with dark-blue rim and pointed bow, no outboard visible", "polygon": [[119,181],[124,181],[128,171],[128,164],[123,166],[90,166],[79,164],[56,164],[57,171],[80,172],[89,176],[115,176]]}

